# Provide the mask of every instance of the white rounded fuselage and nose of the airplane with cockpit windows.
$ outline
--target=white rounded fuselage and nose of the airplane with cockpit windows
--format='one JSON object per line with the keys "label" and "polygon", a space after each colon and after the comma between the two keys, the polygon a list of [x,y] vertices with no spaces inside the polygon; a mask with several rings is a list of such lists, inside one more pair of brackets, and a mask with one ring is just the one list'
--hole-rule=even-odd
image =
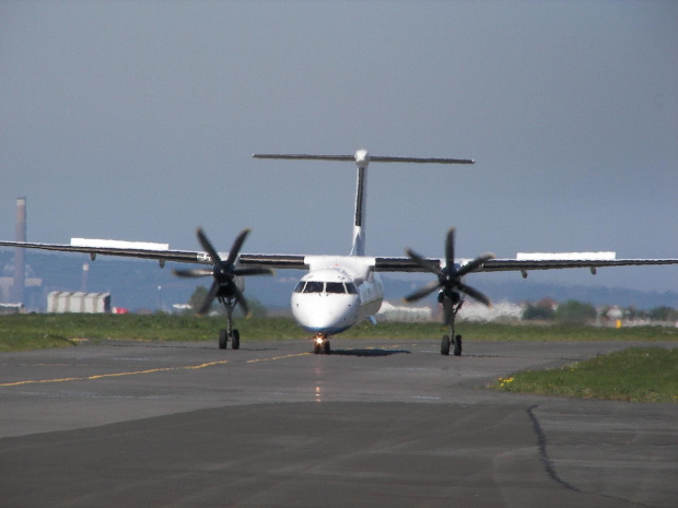
{"label": "white rounded fuselage and nose of the airplane with cockpit windows", "polygon": [[311,271],[292,293],[292,315],[316,335],[334,335],[374,316],[384,299],[371,258],[356,256],[308,257]]}

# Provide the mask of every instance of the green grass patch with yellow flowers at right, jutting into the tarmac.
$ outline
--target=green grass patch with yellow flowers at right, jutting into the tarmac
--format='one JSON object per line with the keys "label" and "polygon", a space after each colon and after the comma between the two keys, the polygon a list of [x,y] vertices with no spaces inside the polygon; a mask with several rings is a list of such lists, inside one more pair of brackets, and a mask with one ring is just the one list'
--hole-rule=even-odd
{"label": "green grass patch with yellow flowers at right, jutting into the tarmac", "polygon": [[678,402],[678,348],[630,347],[562,368],[525,370],[492,388],[629,402]]}

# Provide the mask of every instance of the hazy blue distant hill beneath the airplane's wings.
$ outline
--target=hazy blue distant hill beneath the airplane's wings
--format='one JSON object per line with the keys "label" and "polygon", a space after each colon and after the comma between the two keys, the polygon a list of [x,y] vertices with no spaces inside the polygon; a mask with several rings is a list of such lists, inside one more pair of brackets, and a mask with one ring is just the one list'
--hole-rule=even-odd
{"label": "hazy blue distant hill beneath the airplane's wings", "polygon": [[[0,276],[13,276],[13,249],[0,250]],[[153,261],[100,257],[92,262],[85,255],[26,251],[27,275],[43,280],[40,287],[28,288],[26,292],[27,307],[46,308],[47,294],[51,291],[80,291],[83,283],[84,263],[90,265],[86,291],[109,292],[113,306],[125,307],[132,311],[155,310],[161,307],[170,308],[173,304],[185,304],[196,286],[211,284],[210,277],[202,280],[175,277],[172,274],[172,267],[178,265],[174,263],[167,263],[161,270]],[[287,309],[290,305],[292,290],[301,276],[302,272],[281,270],[276,277],[249,277],[246,282],[245,296],[256,298],[271,309]],[[429,279],[425,275],[383,274],[383,280],[386,299],[399,300]],[[537,302],[543,297],[551,297],[557,302],[576,299],[594,305],[635,306],[639,309],[659,306],[678,308],[678,293],[676,292],[568,286],[523,281],[519,277],[508,282],[478,277],[472,285],[487,293],[494,302]],[[431,296],[430,302],[434,302],[434,295]]]}

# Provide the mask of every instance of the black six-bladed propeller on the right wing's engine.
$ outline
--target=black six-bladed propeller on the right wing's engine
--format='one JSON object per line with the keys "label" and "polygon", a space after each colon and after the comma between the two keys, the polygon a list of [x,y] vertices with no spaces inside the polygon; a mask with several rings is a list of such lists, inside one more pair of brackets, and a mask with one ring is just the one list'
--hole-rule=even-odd
{"label": "black six-bladed propeller on the right wing's engine", "polygon": [[445,268],[440,268],[437,262],[426,260],[422,256],[414,252],[412,249],[407,248],[405,252],[421,268],[435,274],[436,281],[431,281],[413,293],[402,298],[406,303],[416,302],[424,296],[430,295],[434,291],[440,290],[439,302],[443,304],[443,310],[445,312],[445,323],[451,323],[453,320],[453,307],[458,304],[461,296],[459,293],[464,293],[474,299],[490,307],[492,303],[490,298],[480,293],[478,290],[466,285],[461,282],[461,277],[470,272],[478,270],[482,263],[489,259],[493,259],[494,255],[483,253],[472,261],[464,264],[463,267],[456,267],[454,263],[454,227],[451,227],[445,238]]}

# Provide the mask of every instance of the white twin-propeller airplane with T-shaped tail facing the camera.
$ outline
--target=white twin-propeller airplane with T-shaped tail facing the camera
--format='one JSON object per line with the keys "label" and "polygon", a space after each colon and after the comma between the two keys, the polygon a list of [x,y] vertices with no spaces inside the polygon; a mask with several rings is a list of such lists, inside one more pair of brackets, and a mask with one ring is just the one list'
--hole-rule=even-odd
{"label": "white twin-propeller airplane with T-shaped tail facing the camera", "polygon": [[211,264],[211,268],[177,269],[173,273],[182,277],[212,276],[212,285],[198,308],[204,314],[214,298],[226,308],[226,329],[220,330],[219,347],[225,350],[231,342],[233,350],[239,348],[239,332],[233,328],[233,311],[236,306],[249,314],[243,296],[243,277],[274,274],[276,269],[305,270],[291,296],[292,315],[297,324],[309,332],[314,340],[315,354],[330,354],[330,336],[369,320],[376,324],[375,315],[384,299],[381,272],[428,272],[435,279],[404,297],[406,303],[416,302],[437,291],[437,302],[443,307],[444,322],[449,333],[443,335],[441,354],[461,355],[461,335],[455,333],[458,311],[470,297],[490,306],[491,300],[478,290],[465,283],[470,273],[519,271],[524,277],[533,270],[560,270],[588,268],[592,274],[598,268],[623,265],[678,264],[678,259],[617,259],[613,252],[565,252],[522,255],[516,259],[496,259],[483,253],[474,259],[455,257],[455,229],[447,231],[443,258],[426,258],[407,248],[407,257],[371,257],[365,255],[365,210],[367,198],[367,167],[372,162],[411,164],[475,164],[464,158],[424,158],[374,156],[366,150],[354,155],[309,154],[254,154],[259,160],[288,161],[352,161],[358,167],[355,209],[353,220],[353,243],[348,256],[305,256],[241,253],[249,229],[243,229],[235,238],[231,250],[222,255],[217,251],[201,227],[197,237],[203,251],[170,250],[165,244],[136,241],[96,240],[72,238],[70,245],[36,244],[26,241],[0,241],[0,246],[58,250],[89,253],[92,261],[97,255],[154,259],[163,268],[166,261],[179,263]]}

